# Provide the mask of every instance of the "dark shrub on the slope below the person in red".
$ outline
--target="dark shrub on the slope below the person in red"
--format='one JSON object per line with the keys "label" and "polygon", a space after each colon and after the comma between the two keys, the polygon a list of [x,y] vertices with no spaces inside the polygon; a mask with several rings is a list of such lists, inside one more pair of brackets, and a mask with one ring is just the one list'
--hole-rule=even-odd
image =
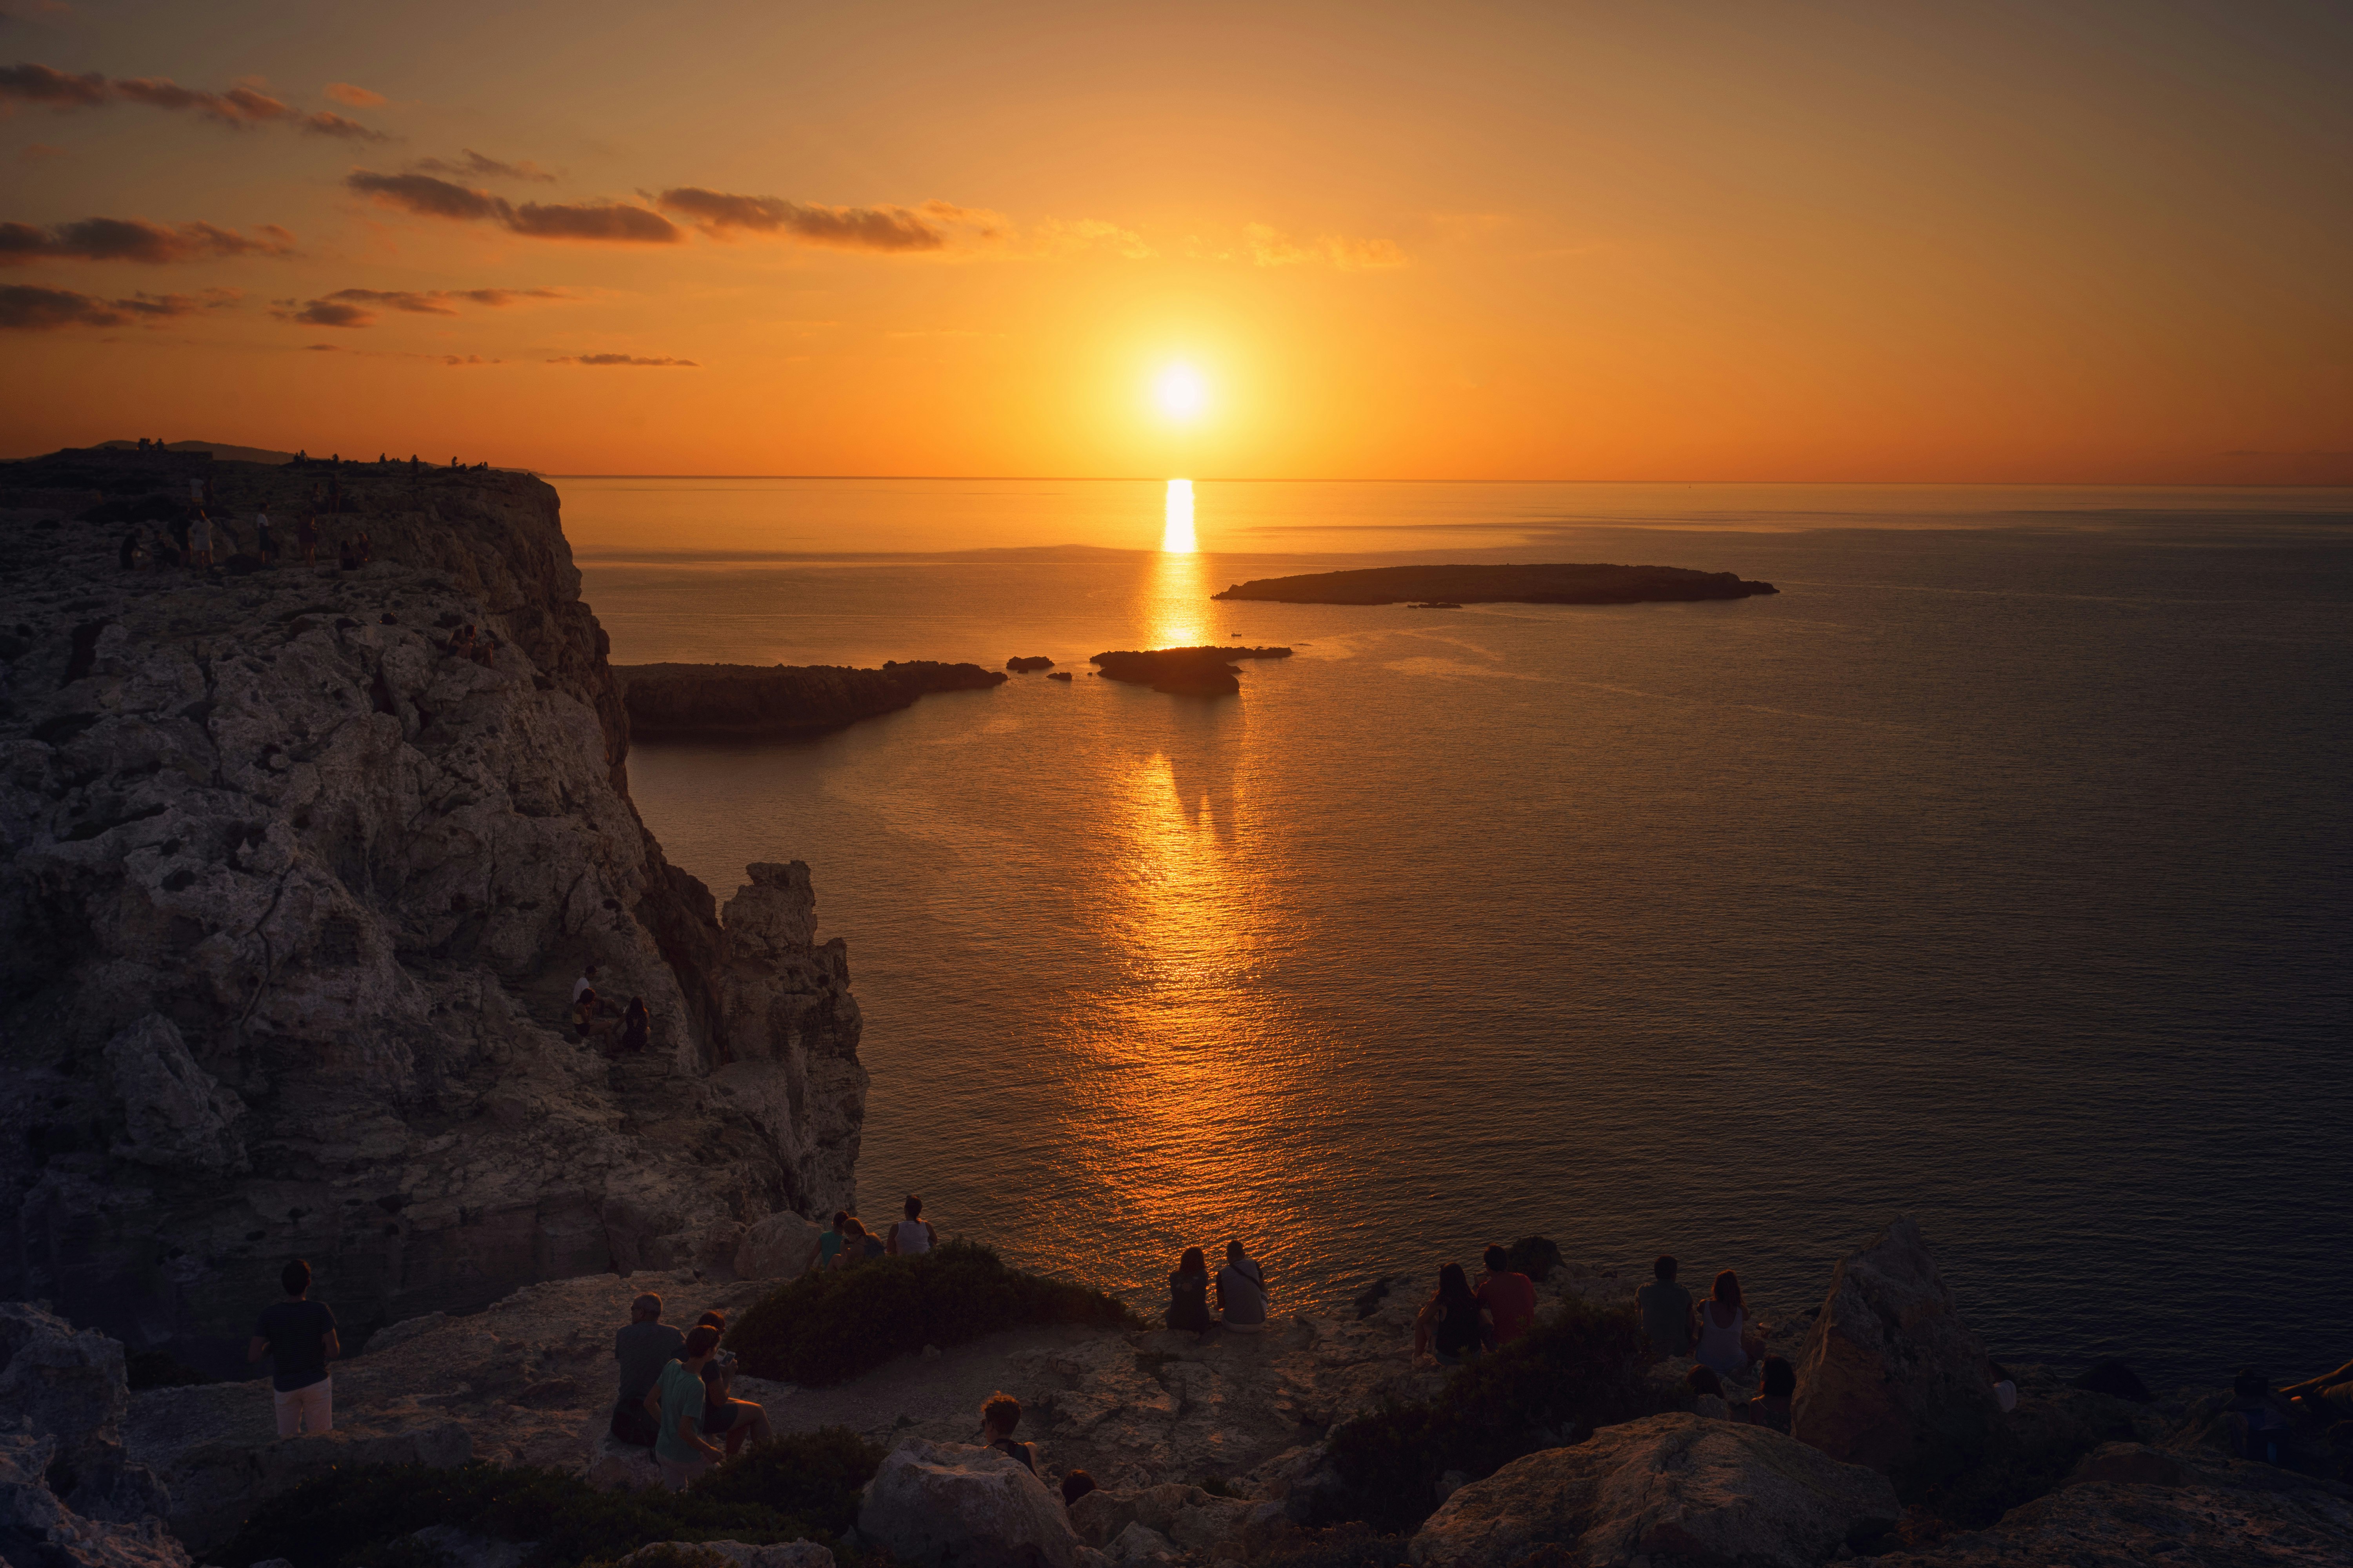
{"label": "dark shrub on the slope below the person in red", "polygon": [[1449,1469],[1478,1481],[1522,1453],[1666,1408],[1640,1373],[1640,1345],[1631,1307],[1572,1298],[1457,1371],[1435,1399],[1388,1401],[1334,1427],[1327,1448],[1341,1493],[1327,1497],[1329,1519],[1409,1535],[1438,1507]]}

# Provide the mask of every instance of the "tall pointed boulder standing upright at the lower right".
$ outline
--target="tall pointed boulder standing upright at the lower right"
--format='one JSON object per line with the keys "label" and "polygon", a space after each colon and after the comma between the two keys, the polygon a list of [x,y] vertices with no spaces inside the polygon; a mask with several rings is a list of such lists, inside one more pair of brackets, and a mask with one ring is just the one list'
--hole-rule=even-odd
{"label": "tall pointed boulder standing upright at the lower right", "polygon": [[1791,1432],[1904,1486],[1977,1462],[2002,1429],[1993,1363],[1908,1218],[1831,1274],[1798,1359]]}

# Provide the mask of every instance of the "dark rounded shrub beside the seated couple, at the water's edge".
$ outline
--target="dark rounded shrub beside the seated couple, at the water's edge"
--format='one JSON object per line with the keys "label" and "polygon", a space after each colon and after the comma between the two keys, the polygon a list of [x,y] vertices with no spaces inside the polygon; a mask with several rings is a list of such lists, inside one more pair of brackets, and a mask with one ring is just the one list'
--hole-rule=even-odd
{"label": "dark rounded shrub beside the seated couple, at the water's edge", "polygon": [[1009,1269],[974,1241],[944,1241],[915,1258],[802,1274],[751,1305],[727,1328],[727,1349],[753,1378],[824,1387],[925,1345],[1031,1324],[1127,1328],[1134,1316],[1101,1291]]}

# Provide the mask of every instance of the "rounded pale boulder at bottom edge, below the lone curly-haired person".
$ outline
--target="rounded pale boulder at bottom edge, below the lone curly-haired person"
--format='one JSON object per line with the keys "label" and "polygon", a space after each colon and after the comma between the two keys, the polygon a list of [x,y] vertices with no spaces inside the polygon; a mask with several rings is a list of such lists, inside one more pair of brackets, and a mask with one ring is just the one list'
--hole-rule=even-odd
{"label": "rounded pale boulder at bottom edge, below the lone curly-haired person", "polygon": [[866,1486],[859,1540],[922,1568],[1080,1568],[1061,1497],[993,1448],[908,1441]]}

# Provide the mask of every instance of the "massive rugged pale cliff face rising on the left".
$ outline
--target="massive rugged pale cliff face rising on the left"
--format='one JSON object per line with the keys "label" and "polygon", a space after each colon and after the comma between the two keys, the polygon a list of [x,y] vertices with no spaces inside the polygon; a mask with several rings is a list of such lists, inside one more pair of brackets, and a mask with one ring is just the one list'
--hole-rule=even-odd
{"label": "massive rugged pale cliff face rising on the left", "polygon": [[[845,947],[798,863],[722,917],[661,858],[555,491],[346,465],[358,571],[292,548],[318,468],[59,454],[0,508],[188,473],[292,564],[122,571],[122,524],[0,510],[0,1298],[219,1361],[294,1255],[351,1338],[847,1204]],[[579,1044],[586,961],[649,1051]]]}

